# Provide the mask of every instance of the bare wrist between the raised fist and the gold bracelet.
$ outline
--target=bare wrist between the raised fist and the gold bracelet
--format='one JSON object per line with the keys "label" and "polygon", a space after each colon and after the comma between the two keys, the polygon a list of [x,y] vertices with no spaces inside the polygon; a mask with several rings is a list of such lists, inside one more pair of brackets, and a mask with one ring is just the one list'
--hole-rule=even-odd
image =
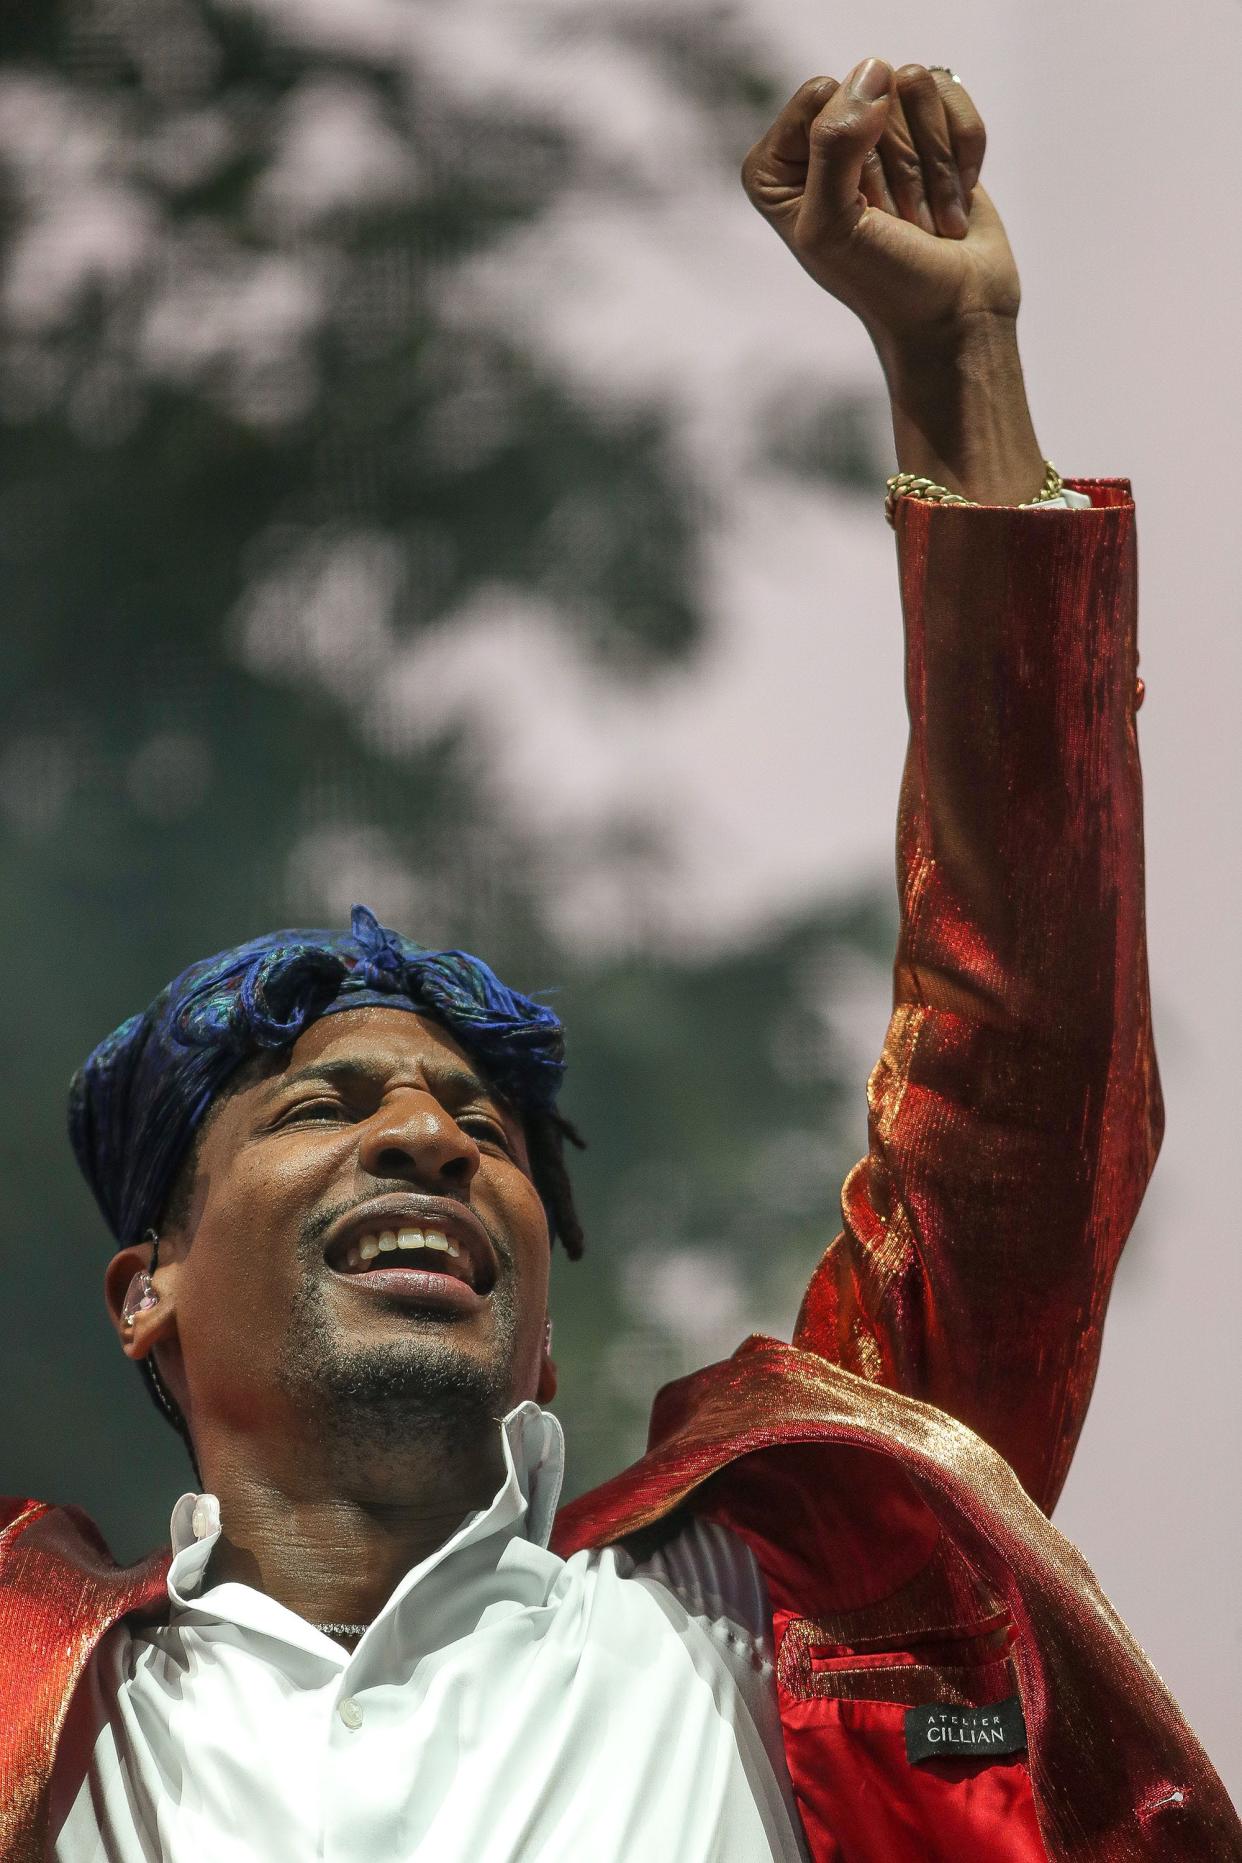
{"label": "bare wrist between the raised fist and the gold bracelet", "polygon": [[898,471],[979,505],[1024,505],[1045,477],[1017,322],[978,317],[937,335],[873,337],[888,382]]}

